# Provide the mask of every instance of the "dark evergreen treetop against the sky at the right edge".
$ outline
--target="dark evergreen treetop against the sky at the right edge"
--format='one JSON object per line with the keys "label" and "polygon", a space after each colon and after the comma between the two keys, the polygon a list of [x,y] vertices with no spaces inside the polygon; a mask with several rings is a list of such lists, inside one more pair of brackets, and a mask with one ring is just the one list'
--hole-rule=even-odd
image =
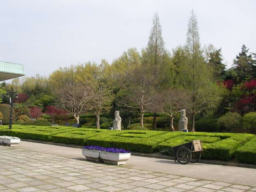
{"label": "dark evergreen treetop against the sky at the right edge", "polygon": [[253,59],[252,54],[248,53],[248,50],[243,45],[241,52],[234,59],[233,65],[236,67],[237,83],[256,78],[256,60]]}

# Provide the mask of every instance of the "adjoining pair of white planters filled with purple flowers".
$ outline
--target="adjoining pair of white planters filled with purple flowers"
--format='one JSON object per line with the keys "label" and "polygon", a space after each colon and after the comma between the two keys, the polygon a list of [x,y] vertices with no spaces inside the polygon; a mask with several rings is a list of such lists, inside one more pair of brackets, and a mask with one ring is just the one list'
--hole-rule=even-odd
{"label": "adjoining pair of white planters filled with purple flowers", "polygon": [[[98,152],[98,153],[97,153]],[[85,146],[82,149],[82,154],[88,159],[93,161],[103,161],[116,165],[125,164],[130,159],[130,151],[118,148],[107,148],[100,146]],[[99,156],[98,156],[99,155]]]}

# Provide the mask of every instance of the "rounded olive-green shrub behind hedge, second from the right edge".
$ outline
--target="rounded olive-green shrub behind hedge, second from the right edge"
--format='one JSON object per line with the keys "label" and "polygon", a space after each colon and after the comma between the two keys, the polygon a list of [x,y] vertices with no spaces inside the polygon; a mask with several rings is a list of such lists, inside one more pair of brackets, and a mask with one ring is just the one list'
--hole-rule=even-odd
{"label": "rounded olive-green shrub behind hedge, second from the right edge", "polygon": [[227,112],[218,119],[218,124],[230,132],[232,128],[241,126],[241,115],[237,112]]}

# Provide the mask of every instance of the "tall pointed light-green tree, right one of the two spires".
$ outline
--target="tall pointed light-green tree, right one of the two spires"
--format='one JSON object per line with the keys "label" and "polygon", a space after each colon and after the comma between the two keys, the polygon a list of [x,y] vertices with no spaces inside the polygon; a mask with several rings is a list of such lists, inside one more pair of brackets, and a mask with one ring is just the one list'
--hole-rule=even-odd
{"label": "tall pointed light-green tree, right one of the two spires", "polygon": [[191,97],[189,111],[192,114],[192,132],[195,132],[195,114],[213,110],[221,97],[211,67],[206,65],[202,56],[197,19],[193,10],[188,23],[184,54],[186,58],[184,63],[180,64],[178,77]]}

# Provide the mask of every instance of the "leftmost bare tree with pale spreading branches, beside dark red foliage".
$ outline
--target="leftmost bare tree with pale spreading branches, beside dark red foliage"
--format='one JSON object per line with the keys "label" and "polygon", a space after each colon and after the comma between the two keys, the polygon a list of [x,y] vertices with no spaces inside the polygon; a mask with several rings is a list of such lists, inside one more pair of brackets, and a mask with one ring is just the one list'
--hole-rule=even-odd
{"label": "leftmost bare tree with pale spreading branches, beside dark red foliage", "polygon": [[91,110],[93,89],[89,85],[67,85],[58,93],[60,107],[73,115],[79,123],[79,115]]}

